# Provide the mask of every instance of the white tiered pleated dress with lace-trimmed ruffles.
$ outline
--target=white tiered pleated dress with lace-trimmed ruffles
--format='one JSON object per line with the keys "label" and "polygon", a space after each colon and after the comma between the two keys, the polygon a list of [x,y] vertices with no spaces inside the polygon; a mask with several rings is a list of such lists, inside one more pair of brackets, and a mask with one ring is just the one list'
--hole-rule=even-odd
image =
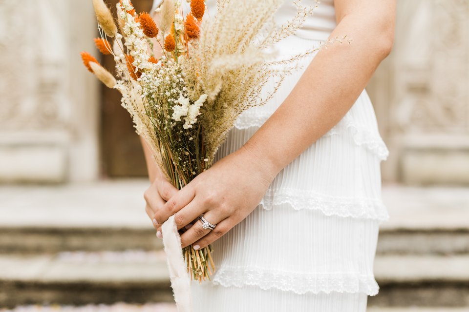
{"label": "white tiered pleated dress with lace-trimmed ruffles", "polygon": [[[215,0],[206,2],[214,14]],[[285,0],[277,21],[295,12],[293,0]],[[333,0],[321,0],[303,28],[277,49],[284,56],[310,49],[335,26]],[[237,119],[218,159],[257,131],[304,70],[289,76],[265,106]],[[277,175],[259,206],[213,243],[216,273],[212,281],[192,283],[194,312],[365,311],[367,296],[379,289],[373,261],[379,224],[388,218],[380,170],[387,156],[363,90],[336,126]]]}

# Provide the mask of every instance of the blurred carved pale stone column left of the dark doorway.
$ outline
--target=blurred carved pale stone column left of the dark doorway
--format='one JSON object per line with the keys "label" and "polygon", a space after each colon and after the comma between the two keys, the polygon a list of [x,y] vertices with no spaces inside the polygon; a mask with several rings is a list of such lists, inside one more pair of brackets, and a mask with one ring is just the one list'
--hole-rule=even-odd
{"label": "blurred carved pale stone column left of the dark doorway", "polygon": [[98,175],[97,82],[91,1],[0,2],[0,181],[63,182]]}

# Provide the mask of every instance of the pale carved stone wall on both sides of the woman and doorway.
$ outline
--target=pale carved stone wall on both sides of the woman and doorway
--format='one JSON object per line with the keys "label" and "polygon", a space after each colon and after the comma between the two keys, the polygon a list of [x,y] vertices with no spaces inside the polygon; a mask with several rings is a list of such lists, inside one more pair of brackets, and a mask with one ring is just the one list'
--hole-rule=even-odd
{"label": "pale carved stone wall on both sides of the woman and doorway", "polygon": [[[91,1],[0,2],[0,181],[98,178]],[[367,87],[385,181],[469,183],[469,2],[399,0],[394,47]]]}

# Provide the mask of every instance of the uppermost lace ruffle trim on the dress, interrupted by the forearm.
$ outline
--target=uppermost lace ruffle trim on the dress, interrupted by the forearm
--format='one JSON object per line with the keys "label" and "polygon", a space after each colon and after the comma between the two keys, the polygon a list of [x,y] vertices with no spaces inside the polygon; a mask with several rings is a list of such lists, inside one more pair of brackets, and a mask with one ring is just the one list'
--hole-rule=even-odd
{"label": "uppermost lace ruffle trim on the dress, interrupted by the forearm", "polygon": [[[245,112],[236,119],[235,128],[260,128],[271,115],[271,113],[264,112],[261,114],[250,114],[249,112]],[[355,125],[355,123],[347,115],[345,115],[345,117],[331,130],[329,130],[323,137],[342,135],[346,132],[352,134],[355,144],[357,144],[358,146],[365,147],[371,153],[376,155],[379,159],[386,160],[389,156],[389,151],[386,147],[386,144],[379,135],[374,134],[372,131],[365,127]]]}

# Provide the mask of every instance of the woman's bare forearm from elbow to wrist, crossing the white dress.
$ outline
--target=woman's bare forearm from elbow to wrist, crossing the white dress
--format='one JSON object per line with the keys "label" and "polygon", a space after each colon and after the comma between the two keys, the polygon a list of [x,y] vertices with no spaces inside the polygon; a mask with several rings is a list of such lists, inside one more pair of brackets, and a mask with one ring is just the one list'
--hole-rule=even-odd
{"label": "woman's bare forearm from elbow to wrist, crossing the white dress", "polygon": [[351,44],[337,42],[321,50],[290,95],[243,146],[251,156],[262,155],[264,170],[276,175],[355,103],[392,45],[389,26],[370,23],[361,16],[345,16],[330,38],[346,34]]}

